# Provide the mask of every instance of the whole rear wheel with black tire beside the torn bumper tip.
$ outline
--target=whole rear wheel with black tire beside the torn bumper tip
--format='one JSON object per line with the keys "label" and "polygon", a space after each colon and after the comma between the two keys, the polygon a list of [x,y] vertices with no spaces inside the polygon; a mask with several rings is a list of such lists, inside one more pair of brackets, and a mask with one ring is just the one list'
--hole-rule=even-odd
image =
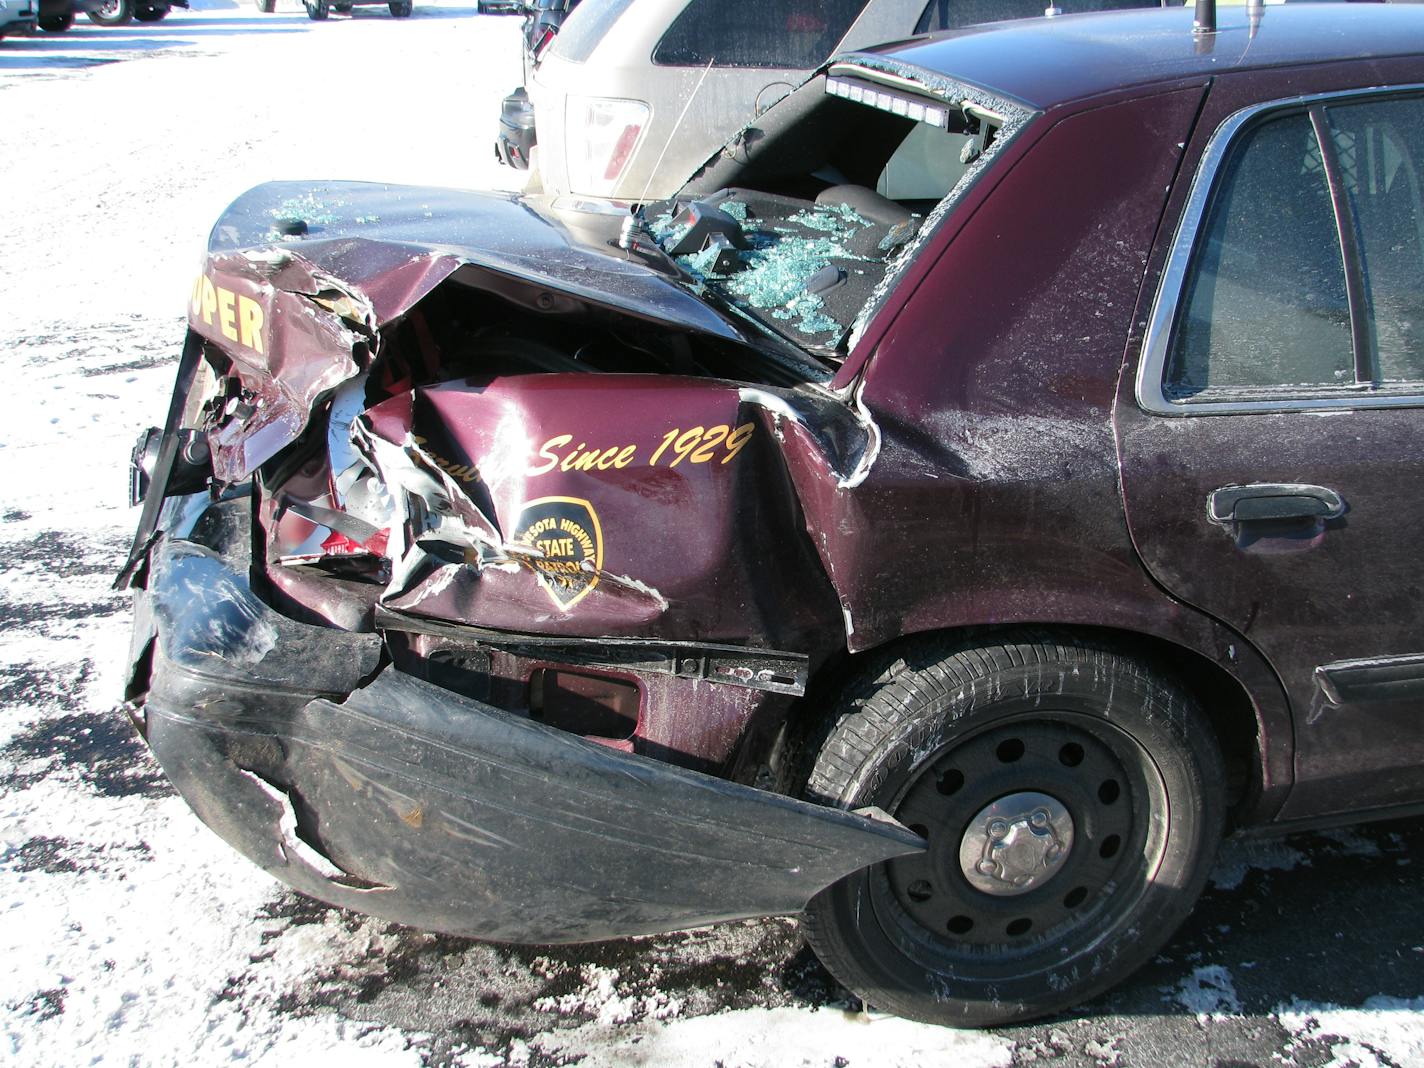
{"label": "whole rear wheel with black tire beside the torn bumper tip", "polygon": [[810,755],[807,796],[877,805],[930,849],[823,890],[806,938],[866,1002],[933,1024],[1032,1020],[1114,985],[1186,918],[1222,836],[1200,708],[1092,644],[916,645]]}

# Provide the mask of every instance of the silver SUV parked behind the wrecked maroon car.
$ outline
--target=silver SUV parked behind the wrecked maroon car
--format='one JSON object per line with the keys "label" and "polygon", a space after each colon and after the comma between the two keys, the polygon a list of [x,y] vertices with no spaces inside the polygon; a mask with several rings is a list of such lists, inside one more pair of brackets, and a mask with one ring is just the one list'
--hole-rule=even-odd
{"label": "silver SUV parked behind the wrecked maroon car", "polygon": [[1042,0],[585,0],[506,98],[496,154],[527,167],[538,144],[531,188],[661,199],[834,51],[1042,13]]}

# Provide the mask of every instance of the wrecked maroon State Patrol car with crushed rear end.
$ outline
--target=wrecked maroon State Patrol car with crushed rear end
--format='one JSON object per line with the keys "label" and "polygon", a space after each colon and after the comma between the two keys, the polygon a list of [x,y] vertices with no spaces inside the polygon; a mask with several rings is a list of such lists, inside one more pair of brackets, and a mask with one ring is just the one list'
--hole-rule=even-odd
{"label": "wrecked maroon State Patrol car with crushed rear end", "polygon": [[135,449],[130,708],[325,901],[803,913],[958,1025],[1418,810],[1424,11],[842,56],[669,202],[272,184]]}

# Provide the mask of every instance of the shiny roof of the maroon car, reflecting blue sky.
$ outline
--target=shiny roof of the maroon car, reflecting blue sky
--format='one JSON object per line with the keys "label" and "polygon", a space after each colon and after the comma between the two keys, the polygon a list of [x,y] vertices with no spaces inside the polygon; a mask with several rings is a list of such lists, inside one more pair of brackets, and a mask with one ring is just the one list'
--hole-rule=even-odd
{"label": "shiny roof of the maroon car, reflecting blue sky", "polygon": [[1424,51],[1424,6],[1220,6],[1218,31],[1192,34],[1192,9],[1148,9],[988,23],[866,50],[1037,110],[1101,93],[1236,70]]}

